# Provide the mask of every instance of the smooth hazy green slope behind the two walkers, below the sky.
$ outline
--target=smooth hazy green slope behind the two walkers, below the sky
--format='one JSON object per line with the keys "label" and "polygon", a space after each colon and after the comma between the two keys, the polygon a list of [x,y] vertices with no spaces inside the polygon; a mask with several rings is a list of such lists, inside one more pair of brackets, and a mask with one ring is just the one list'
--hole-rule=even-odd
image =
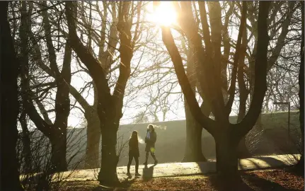
{"label": "smooth hazy green slope behind the two walkers, below the sky", "polygon": [[[299,112],[291,112],[291,129],[299,129]],[[232,123],[236,122],[236,116],[230,117]],[[287,129],[287,112],[277,112],[263,114],[262,116],[263,129],[272,129],[268,131],[269,134],[287,134],[283,129]],[[156,125],[157,141],[156,141],[156,156],[159,162],[180,162],[183,158],[185,151],[185,120],[175,120],[169,122],[154,122]],[[139,132],[139,137],[144,139],[146,135],[146,127],[148,123],[140,123],[134,125],[120,125],[118,131],[119,140],[117,141],[118,146],[125,143],[130,137],[130,133],[133,130]],[[86,129],[69,129],[74,131],[71,138],[69,139],[67,158],[73,156],[74,153],[79,154],[71,161],[79,161],[84,156],[86,150]],[[277,133],[275,133],[277,132]],[[280,133],[278,133],[280,132]],[[39,133],[38,133],[39,134]],[[282,139],[282,138],[281,138]],[[285,144],[283,142],[283,144]],[[139,144],[140,150],[140,163],[144,162],[144,144]],[[261,147],[266,147],[265,145]],[[203,129],[202,132],[202,151],[207,158],[214,158],[214,139],[213,137]],[[270,150],[272,150],[271,148]],[[127,165],[127,148],[123,149],[122,155],[118,166]],[[149,161],[152,162],[150,158]]]}

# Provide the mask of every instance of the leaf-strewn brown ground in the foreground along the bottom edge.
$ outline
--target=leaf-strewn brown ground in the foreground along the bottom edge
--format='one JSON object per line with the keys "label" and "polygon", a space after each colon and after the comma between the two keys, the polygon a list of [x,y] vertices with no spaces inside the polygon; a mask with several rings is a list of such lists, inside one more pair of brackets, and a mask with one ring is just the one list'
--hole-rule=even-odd
{"label": "leaf-strewn brown ground in the foreground along the bottom edge", "polygon": [[[289,168],[241,172],[238,190],[304,190],[304,177],[291,173]],[[167,178],[129,179],[112,188],[98,181],[67,182],[61,191],[76,190],[218,190],[215,175],[188,175]]]}

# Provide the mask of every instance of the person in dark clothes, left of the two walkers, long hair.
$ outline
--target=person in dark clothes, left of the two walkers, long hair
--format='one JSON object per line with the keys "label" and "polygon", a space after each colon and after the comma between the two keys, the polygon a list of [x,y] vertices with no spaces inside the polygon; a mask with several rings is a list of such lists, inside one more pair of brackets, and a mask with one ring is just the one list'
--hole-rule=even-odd
{"label": "person in dark clothes, left of the two walkers, long hair", "polygon": [[132,159],[136,161],[136,176],[140,175],[138,173],[139,169],[139,141],[138,141],[138,132],[133,131],[132,136],[129,141],[130,151],[129,151],[129,161],[127,164],[127,175],[130,175],[130,165],[132,164]]}

